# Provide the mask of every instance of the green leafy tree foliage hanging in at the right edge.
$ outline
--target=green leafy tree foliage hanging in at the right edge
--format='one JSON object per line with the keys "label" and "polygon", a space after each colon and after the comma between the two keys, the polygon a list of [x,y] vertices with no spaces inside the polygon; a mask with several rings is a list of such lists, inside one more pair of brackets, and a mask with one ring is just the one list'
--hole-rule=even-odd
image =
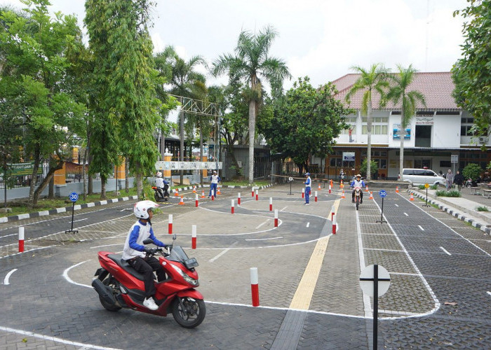
{"label": "green leafy tree foliage hanging in at the right edge", "polygon": [[[491,132],[491,1],[467,0],[469,6],[455,11],[466,22],[462,33],[462,58],[452,68],[455,83],[453,96],[457,105],[474,118],[475,136],[489,136]],[[485,143],[482,145],[485,149]]]}

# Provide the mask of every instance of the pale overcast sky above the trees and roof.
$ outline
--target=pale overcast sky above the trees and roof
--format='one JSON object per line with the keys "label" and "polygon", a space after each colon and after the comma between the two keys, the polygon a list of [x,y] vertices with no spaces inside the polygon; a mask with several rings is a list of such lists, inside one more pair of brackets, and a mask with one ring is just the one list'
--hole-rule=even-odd
{"label": "pale overcast sky above the trees and roof", "polygon": [[[419,71],[449,71],[460,56],[466,0],[155,0],[151,29],[156,52],[173,45],[181,57],[213,62],[233,52],[242,29],[272,25],[278,37],[270,55],[283,59],[292,80],[314,86],[382,62],[413,64]],[[83,25],[83,0],[51,0],[51,10],[74,14]],[[0,0],[17,8],[18,0]],[[217,80],[209,77],[209,83]],[[226,79],[220,79],[225,82]]]}

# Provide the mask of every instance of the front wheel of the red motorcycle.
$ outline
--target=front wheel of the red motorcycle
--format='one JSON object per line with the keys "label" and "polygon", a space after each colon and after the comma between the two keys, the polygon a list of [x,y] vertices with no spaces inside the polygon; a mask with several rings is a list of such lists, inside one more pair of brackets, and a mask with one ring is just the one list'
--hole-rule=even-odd
{"label": "front wheel of the red motorcycle", "polygon": [[205,319],[205,302],[192,297],[176,297],[172,306],[172,314],[175,321],[182,327],[194,328]]}

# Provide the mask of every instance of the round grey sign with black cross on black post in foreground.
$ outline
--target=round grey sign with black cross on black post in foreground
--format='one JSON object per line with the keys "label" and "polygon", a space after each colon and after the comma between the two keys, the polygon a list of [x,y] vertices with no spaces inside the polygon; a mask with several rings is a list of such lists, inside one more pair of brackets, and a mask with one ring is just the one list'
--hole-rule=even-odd
{"label": "round grey sign with black cross on black post in foreground", "polygon": [[379,297],[384,295],[391,285],[389,272],[377,264],[365,267],[360,274],[360,287],[363,293],[373,297],[373,349],[378,343]]}

